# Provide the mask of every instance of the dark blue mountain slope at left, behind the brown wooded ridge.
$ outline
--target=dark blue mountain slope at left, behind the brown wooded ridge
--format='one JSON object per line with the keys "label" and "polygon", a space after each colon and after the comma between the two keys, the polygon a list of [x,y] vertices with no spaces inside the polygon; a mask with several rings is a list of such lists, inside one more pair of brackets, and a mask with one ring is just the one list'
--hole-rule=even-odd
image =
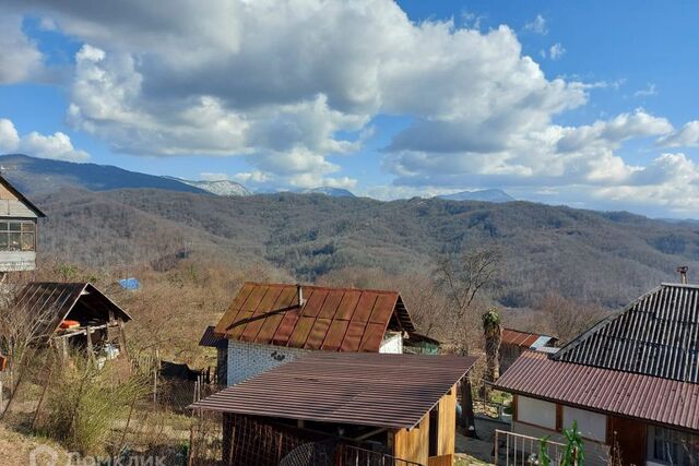
{"label": "dark blue mountain slope at left, behind the brown wooded ridge", "polygon": [[48,160],[22,154],[1,155],[0,166],[2,166],[2,175],[28,195],[49,193],[61,188],[82,188],[91,191],[154,188],[205,192],[171,178],[139,174],[107,165]]}

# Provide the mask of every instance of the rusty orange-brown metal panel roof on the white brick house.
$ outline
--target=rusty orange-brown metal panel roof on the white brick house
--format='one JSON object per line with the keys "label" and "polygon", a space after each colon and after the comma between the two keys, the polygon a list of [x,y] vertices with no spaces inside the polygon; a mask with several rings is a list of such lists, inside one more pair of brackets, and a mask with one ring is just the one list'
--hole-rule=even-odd
{"label": "rusty orange-brown metal panel roof on the white brick house", "polygon": [[215,327],[227,338],[330,351],[378,351],[388,328],[415,331],[396,291],[246,283]]}

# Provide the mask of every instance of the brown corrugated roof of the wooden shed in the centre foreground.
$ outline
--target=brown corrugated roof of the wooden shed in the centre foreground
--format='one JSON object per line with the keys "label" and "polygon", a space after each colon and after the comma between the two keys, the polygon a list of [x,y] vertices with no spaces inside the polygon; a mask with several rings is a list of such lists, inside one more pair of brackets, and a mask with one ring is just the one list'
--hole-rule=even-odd
{"label": "brown corrugated roof of the wooden shed in the centre foreground", "polygon": [[194,408],[250,416],[412,428],[475,357],[317,351],[225,389]]}

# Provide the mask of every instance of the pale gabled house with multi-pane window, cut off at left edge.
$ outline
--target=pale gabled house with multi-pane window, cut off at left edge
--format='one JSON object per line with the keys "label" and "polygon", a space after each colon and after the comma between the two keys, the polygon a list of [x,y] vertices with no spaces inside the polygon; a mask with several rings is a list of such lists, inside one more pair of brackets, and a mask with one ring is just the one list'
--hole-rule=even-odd
{"label": "pale gabled house with multi-pane window, cut off at left edge", "polygon": [[46,215],[0,176],[0,273],[36,268],[38,219]]}

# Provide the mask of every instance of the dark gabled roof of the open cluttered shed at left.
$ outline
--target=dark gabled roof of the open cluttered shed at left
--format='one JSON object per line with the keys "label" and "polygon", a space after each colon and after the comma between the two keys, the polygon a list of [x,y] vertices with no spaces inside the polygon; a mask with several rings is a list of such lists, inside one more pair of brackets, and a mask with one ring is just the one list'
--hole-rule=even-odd
{"label": "dark gabled roof of the open cluttered shed at left", "polygon": [[46,319],[45,334],[54,333],[68,314],[76,307],[90,309],[96,314],[111,310],[115,318],[125,322],[131,316],[90,283],[34,282],[16,296],[15,306],[27,318]]}

